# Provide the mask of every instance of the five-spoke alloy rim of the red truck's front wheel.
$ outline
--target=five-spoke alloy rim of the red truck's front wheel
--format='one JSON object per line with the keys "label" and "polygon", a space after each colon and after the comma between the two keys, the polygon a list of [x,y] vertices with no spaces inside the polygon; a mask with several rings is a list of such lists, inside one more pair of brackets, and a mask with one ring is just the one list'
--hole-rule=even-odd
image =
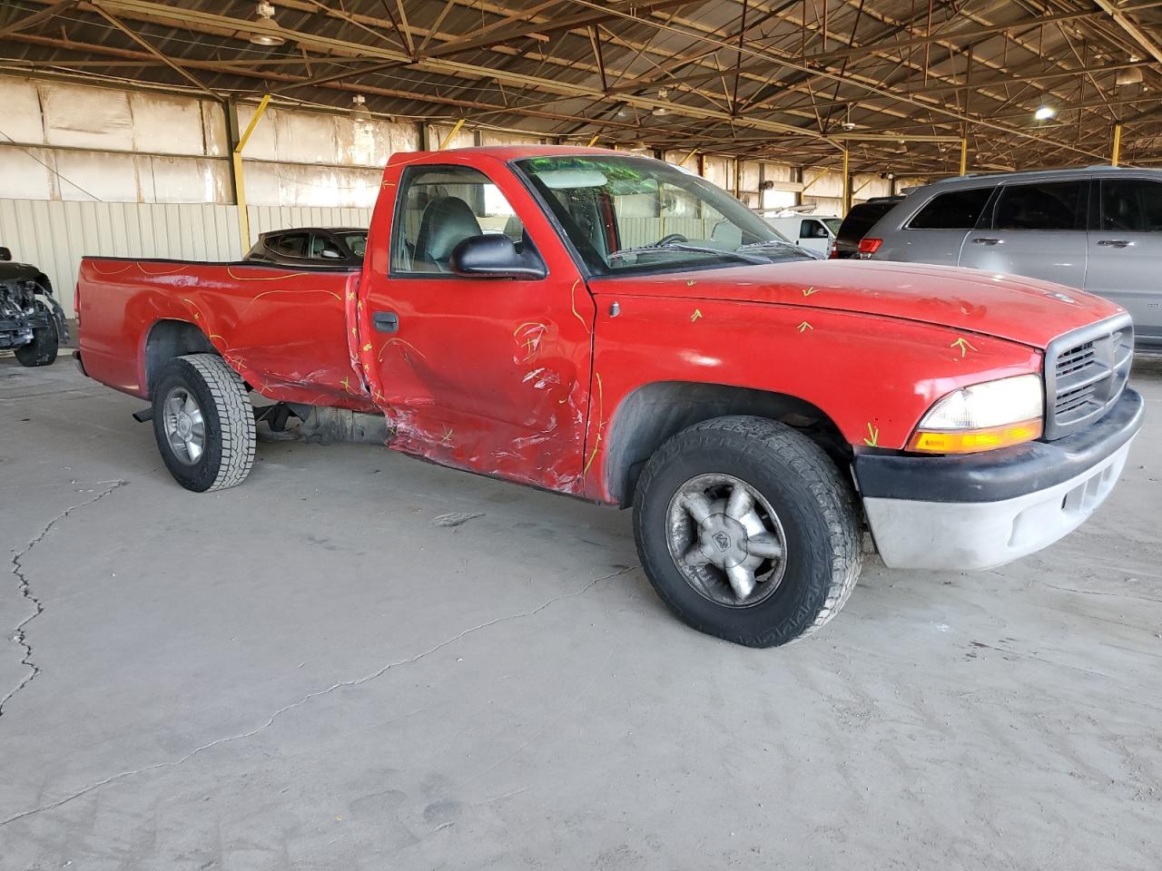
{"label": "five-spoke alloy rim of the red truck's front wheel", "polygon": [[783,580],[782,523],[762,494],[733,475],[696,475],[679,487],[666,542],[686,582],[719,605],[753,607]]}

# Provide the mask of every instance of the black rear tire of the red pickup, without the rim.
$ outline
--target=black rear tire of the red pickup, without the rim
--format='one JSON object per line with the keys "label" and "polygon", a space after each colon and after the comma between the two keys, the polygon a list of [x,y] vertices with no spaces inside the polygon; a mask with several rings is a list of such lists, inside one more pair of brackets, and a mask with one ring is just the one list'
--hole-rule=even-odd
{"label": "black rear tire of the red pickup, without the rim", "polygon": [[[196,459],[180,456],[166,433],[166,401],[193,397],[202,417],[203,447]],[[170,360],[152,384],[153,436],[174,480],[194,492],[241,484],[254,465],[254,410],[246,386],[216,354]]]}

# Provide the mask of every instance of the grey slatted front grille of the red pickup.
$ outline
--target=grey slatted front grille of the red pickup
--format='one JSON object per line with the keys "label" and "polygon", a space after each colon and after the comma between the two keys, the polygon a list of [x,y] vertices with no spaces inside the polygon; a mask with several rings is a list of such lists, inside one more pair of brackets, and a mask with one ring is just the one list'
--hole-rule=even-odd
{"label": "grey slatted front grille of the red pickup", "polygon": [[1045,354],[1045,437],[1060,439],[1104,416],[1121,396],[1133,358],[1128,315],[1050,341]]}

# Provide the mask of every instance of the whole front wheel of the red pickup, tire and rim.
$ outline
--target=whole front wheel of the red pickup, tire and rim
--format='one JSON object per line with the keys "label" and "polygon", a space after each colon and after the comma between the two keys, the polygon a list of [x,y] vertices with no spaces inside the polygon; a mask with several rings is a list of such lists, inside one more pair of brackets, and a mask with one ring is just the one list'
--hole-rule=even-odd
{"label": "whole front wheel of the red pickup, tire and rim", "polygon": [[748,647],[811,634],[862,564],[852,488],[805,436],[756,417],[690,426],[646,463],[634,495],[641,564],[687,624]]}

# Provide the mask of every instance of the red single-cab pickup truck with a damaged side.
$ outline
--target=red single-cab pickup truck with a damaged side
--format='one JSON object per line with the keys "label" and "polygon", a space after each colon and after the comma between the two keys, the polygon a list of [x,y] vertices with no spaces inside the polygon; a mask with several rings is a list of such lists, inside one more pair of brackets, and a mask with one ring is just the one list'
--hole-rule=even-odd
{"label": "red single-cab pickup truck with a damaged side", "polygon": [[643,566],[751,646],[890,567],[1028,554],[1110,494],[1142,416],[1117,305],[809,258],[658,160],[396,154],[361,271],[86,258],[78,361],[149,399],[189,490],[241,483],[250,394],[382,413],[388,447],[632,506]]}

